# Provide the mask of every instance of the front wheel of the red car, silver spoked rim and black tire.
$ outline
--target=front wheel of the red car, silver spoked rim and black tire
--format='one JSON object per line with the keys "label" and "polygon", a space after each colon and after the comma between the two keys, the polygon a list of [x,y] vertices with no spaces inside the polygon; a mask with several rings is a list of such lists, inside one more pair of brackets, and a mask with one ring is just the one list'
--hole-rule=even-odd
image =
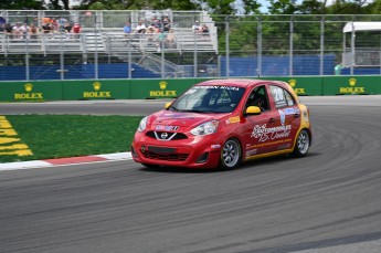
{"label": "front wheel of the red car, silver spoked rim and black tire", "polygon": [[241,164],[241,157],[242,149],[240,141],[235,138],[227,139],[221,149],[220,168],[236,168]]}

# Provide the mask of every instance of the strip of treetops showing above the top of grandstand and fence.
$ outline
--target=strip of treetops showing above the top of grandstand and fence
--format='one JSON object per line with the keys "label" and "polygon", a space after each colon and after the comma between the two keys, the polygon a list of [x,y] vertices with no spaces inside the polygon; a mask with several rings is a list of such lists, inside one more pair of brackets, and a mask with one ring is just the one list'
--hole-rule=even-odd
{"label": "strip of treetops showing above the top of grandstand and fence", "polygon": [[[381,0],[269,0],[269,14],[380,14]],[[258,0],[8,0],[3,10],[205,10],[215,15],[260,14]]]}

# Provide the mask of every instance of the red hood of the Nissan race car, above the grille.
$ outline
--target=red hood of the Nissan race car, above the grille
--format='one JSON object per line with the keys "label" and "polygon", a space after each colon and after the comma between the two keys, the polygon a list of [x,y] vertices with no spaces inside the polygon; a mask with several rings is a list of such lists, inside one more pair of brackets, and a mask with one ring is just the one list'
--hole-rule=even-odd
{"label": "red hood of the Nissan race car, above the grille", "polygon": [[225,117],[226,114],[202,114],[160,110],[150,116],[149,127],[154,130],[177,130]]}

